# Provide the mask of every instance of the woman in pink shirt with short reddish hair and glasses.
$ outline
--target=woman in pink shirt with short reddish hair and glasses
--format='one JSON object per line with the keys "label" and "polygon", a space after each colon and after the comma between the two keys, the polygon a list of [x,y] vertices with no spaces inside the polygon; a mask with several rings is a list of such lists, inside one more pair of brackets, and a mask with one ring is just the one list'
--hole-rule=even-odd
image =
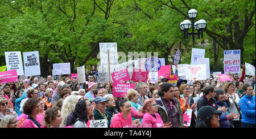
{"label": "woman in pink shirt with short reddish hair and glasses", "polygon": [[158,105],[155,100],[150,98],[144,101],[144,110],[148,111],[144,116],[142,123],[143,124],[151,124],[152,128],[170,128],[171,122],[163,123],[161,116],[156,113],[158,111]]}

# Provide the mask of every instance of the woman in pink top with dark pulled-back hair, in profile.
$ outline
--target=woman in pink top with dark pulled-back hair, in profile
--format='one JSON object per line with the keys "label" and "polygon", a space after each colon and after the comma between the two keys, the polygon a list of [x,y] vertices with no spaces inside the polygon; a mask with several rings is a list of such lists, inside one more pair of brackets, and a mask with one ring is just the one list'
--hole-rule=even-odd
{"label": "woman in pink top with dark pulled-back hair, in profile", "polygon": [[133,124],[139,124],[139,119],[131,119],[131,103],[127,99],[119,101],[118,114],[114,116],[110,128],[129,128]]}

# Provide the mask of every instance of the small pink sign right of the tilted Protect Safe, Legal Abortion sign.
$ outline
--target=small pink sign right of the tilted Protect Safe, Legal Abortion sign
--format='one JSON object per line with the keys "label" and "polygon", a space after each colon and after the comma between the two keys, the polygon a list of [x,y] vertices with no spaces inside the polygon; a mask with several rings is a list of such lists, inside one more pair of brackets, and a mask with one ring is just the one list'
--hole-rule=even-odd
{"label": "small pink sign right of the tilted Protect Safe, Legal Abortion sign", "polygon": [[131,81],[142,81],[147,83],[148,71],[142,69],[133,69],[133,75],[131,76]]}

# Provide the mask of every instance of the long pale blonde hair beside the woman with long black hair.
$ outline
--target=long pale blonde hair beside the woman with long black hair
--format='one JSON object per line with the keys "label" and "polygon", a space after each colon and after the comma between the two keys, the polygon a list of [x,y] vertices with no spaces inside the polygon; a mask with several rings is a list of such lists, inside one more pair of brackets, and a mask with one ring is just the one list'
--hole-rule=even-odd
{"label": "long pale blonde hair beside the woman with long black hair", "polygon": [[74,112],[77,102],[78,102],[78,99],[77,99],[76,95],[69,95],[67,98],[64,99],[63,106],[61,108],[61,117],[63,119],[62,119],[62,123],[61,123],[60,127],[66,126],[67,117],[69,114]]}

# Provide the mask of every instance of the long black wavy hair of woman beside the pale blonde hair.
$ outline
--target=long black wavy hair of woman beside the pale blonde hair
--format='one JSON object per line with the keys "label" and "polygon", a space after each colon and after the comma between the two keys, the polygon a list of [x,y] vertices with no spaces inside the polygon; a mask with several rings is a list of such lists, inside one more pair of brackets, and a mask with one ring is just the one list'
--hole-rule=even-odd
{"label": "long black wavy hair of woman beside the pale blonde hair", "polygon": [[79,101],[77,104],[76,104],[76,107],[75,107],[75,110],[73,112],[73,116],[72,116],[72,119],[71,119],[71,123],[72,124],[75,124],[76,123],[76,119],[78,118],[80,121],[85,121],[85,123],[87,123],[87,121],[89,120],[87,118],[88,114],[86,112],[86,99],[83,99],[81,101]]}

